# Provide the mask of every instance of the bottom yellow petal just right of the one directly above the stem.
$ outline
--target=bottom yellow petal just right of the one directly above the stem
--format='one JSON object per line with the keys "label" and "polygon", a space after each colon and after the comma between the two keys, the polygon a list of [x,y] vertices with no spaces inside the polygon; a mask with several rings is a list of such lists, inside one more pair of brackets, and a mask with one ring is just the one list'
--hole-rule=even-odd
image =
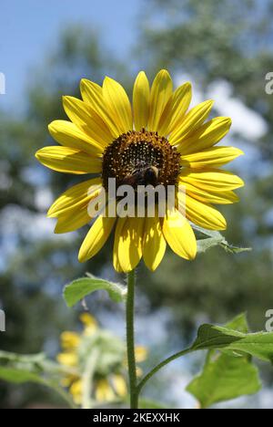
{"label": "bottom yellow petal just right of the one directly above the stem", "polygon": [[155,218],[146,218],[143,239],[143,259],[151,271],[155,271],[161,263],[165,255],[166,246],[166,240],[162,233],[162,226],[158,216]]}

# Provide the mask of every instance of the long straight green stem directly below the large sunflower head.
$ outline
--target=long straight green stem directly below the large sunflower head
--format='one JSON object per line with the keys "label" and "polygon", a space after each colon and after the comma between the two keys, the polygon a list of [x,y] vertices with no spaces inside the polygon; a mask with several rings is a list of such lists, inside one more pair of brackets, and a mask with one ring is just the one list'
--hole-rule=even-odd
{"label": "long straight green stem directly below the large sunflower head", "polygon": [[135,282],[136,271],[127,274],[127,298],[126,298],[126,344],[127,362],[129,374],[130,408],[138,408],[138,393],[136,390],[136,355],[135,355],[135,332],[134,332],[134,311],[135,311]]}

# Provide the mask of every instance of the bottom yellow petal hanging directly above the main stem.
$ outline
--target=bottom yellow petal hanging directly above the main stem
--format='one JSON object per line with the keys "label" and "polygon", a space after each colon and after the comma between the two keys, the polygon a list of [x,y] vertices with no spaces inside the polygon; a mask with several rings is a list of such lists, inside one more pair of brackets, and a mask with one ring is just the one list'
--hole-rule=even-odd
{"label": "bottom yellow petal hanging directly above the main stem", "polygon": [[114,266],[116,257],[124,273],[132,271],[142,256],[145,218],[118,218],[116,224]]}

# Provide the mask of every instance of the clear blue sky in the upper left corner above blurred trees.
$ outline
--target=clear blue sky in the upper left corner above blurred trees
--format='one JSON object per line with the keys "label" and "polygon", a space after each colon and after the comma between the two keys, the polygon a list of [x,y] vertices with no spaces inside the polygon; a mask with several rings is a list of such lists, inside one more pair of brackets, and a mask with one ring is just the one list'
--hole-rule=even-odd
{"label": "clear blue sky in the upper left corner above blurred trees", "polygon": [[71,22],[101,29],[106,45],[122,56],[133,43],[142,0],[1,0],[0,72],[6,95],[0,108],[12,107],[24,93],[25,76],[56,43]]}

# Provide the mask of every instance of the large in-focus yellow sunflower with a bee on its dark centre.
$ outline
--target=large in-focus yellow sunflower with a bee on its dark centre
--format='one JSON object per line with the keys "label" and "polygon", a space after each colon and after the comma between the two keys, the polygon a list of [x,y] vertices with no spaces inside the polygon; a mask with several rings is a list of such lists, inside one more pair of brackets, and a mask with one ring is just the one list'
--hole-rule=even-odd
{"label": "large in-focus yellow sunflower with a bee on its dark centre", "polygon": [[[167,70],[157,74],[151,87],[146,74],[136,77],[132,105],[125,89],[106,77],[102,87],[83,79],[82,99],[64,97],[71,121],[56,120],[49,131],[60,146],[37,151],[36,158],[57,172],[93,174],[63,193],[51,206],[49,217],[57,219],[57,234],[68,233],[91,222],[88,204],[103,191],[108,180],[116,186],[135,177],[135,184],[183,186],[177,192],[175,212],[165,217],[92,218],[91,228],[79,250],[86,262],[106,244],[115,230],[114,266],[118,272],[133,270],[143,257],[154,271],[167,244],[179,256],[193,260],[197,240],[191,224],[209,230],[224,230],[226,220],[214,204],[238,202],[234,190],[243,185],[238,176],[220,170],[243,154],[233,147],[217,147],[231,120],[207,121],[213,101],[189,109],[190,83],[173,90]],[[95,176],[94,176],[95,174]]]}

